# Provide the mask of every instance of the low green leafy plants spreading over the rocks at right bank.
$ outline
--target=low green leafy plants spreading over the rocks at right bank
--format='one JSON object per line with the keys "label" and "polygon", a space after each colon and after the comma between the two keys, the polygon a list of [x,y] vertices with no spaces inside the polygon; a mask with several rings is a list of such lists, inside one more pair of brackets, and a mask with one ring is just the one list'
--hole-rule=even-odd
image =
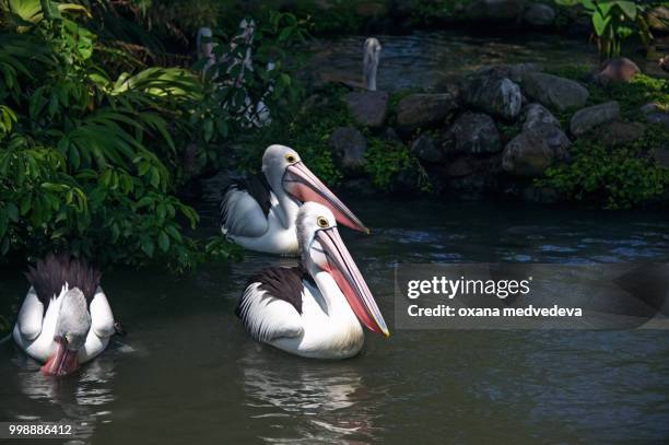
{"label": "low green leafy plants spreading over the rocks at right bank", "polygon": [[539,184],[607,209],[645,203],[669,187],[669,168],[650,157],[652,150],[668,138],[666,129],[648,128],[639,141],[613,149],[588,138],[578,139],[571,148],[573,162],[549,168]]}

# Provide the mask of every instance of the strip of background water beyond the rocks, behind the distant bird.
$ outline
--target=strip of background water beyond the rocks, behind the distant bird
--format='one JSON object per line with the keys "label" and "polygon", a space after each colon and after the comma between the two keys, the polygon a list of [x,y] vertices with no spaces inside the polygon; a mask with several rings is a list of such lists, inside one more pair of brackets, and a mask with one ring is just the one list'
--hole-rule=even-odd
{"label": "strip of background water beyond the rocks, behind the distant bird", "polygon": [[[377,80],[383,91],[431,89],[454,74],[489,65],[539,62],[550,68],[598,61],[595,46],[585,39],[538,33],[490,36],[433,31],[376,37],[383,47]],[[361,82],[365,38],[316,40],[309,48],[309,71]]]}

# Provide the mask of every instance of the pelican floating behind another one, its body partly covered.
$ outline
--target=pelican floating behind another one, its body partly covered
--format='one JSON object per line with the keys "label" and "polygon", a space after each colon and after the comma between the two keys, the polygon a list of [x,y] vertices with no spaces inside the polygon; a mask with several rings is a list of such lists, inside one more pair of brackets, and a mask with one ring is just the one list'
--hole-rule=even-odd
{"label": "pelican floating behind another one, its body partly covered", "polygon": [[240,246],[268,254],[296,255],[295,219],[303,202],[327,206],[337,221],[353,230],[367,227],[300,159],[284,145],[270,145],[262,155],[262,175],[233,181],[223,191],[221,230]]}

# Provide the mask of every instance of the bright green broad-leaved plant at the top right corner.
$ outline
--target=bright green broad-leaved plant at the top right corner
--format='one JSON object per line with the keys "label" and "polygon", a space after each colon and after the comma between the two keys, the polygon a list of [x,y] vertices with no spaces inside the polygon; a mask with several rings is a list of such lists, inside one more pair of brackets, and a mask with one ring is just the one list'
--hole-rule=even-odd
{"label": "bright green broad-leaved plant at the top right corner", "polygon": [[624,39],[633,34],[644,44],[653,38],[644,14],[645,7],[627,0],[555,0],[565,7],[580,7],[592,22],[602,59],[618,57]]}

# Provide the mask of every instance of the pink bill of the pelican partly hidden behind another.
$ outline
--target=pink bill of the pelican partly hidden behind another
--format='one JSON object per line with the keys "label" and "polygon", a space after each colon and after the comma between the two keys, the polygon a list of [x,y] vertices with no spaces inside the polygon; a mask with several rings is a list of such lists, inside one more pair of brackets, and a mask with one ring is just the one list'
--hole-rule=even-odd
{"label": "pink bill of the pelican partly hidden behind another", "polygon": [[302,202],[318,202],[334,214],[340,224],[354,231],[369,233],[355,214],[302,162],[289,165],[283,176],[283,187]]}

